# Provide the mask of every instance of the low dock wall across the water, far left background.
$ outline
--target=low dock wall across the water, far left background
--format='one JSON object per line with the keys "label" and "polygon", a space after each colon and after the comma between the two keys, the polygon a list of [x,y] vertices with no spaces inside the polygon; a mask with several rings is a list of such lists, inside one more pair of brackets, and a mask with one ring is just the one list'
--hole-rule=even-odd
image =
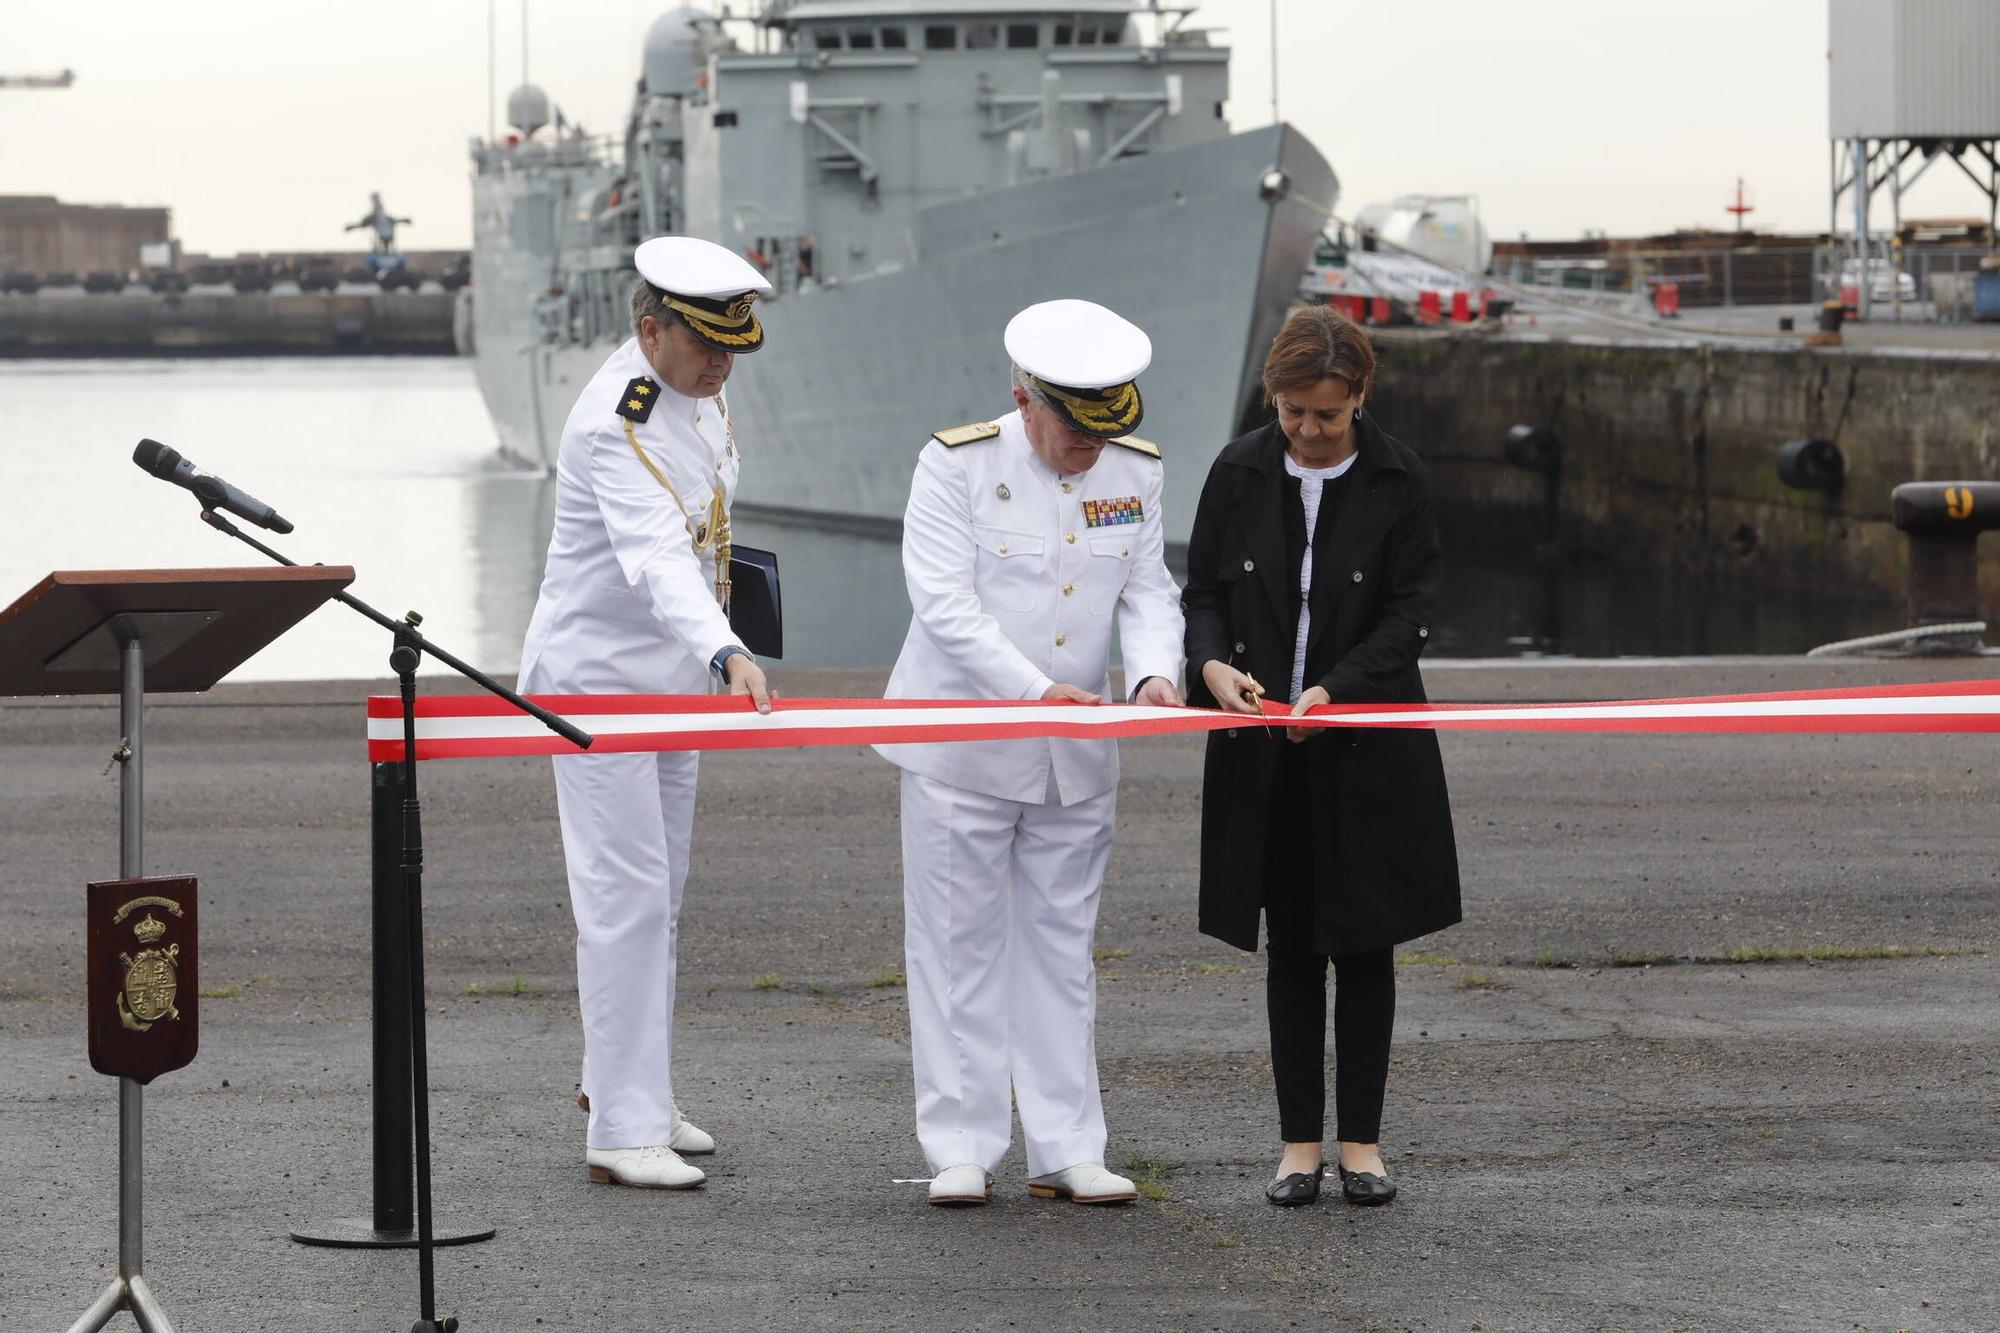
{"label": "low dock wall across the water, far left background", "polygon": [[450,292],[0,296],[0,356],[450,354]]}

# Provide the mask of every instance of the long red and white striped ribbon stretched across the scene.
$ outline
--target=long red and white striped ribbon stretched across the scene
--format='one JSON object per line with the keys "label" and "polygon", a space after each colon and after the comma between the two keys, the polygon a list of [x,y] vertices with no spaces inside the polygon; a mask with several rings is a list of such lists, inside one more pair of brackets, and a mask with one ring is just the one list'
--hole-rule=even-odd
{"label": "long red and white striped ribbon stretched across the scene", "polygon": [[[1326,705],[1294,719],[1268,703],[1262,719],[1146,705],[1002,703],[984,699],[780,699],[768,715],[726,695],[534,695],[596,737],[592,755],[628,751],[758,751],[804,745],[1120,739],[1234,727],[1428,727],[1436,731],[1594,733],[2000,733],[2000,681],[1946,681],[1772,695],[1546,705]],[[574,755],[492,695],[416,701],[418,759]],[[368,759],[402,759],[402,701],[368,701]]]}

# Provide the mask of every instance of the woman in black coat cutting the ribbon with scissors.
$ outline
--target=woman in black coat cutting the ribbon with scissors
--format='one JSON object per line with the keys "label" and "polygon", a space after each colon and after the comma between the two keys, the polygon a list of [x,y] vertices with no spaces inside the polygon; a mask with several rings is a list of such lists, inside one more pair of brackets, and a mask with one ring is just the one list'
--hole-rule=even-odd
{"label": "woman in black coat cutting the ribbon with scissors", "polygon": [[[1424,701],[1438,528],[1416,454],[1362,412],[1372,380],[1360,328],[1324,306],[1286,320],[1264,362],[1278,420],[1220,452],[1194,514],[1188,703],[1260,713],[1270,693],[1298,715]],[[1460,919],[1436,733],[1210,733],[1200,927],[1254,951],[1260,913],[1284,1137],[1266,1197],[1318,1199],[1330,959],[1342,1193],[1388,1203],[1392,949]]]}

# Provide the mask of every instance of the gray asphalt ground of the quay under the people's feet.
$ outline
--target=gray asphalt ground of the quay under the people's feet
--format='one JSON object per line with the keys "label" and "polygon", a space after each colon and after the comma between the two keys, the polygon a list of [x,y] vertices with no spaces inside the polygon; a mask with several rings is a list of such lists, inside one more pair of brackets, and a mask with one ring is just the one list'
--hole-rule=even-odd
{"label": "gray asphalt ground of the quay under the people's feet", "polygon": [[[1438,664],[1438,699],[1992,677],[1802,658]],[[778,673],[868,695],[878,673]],[[430,683],[444,687],[444,683]],[[366,685],[148,713],[148,869],[202,879],[202,1055],[148,1093],[146,1271],[182,1333],[406,1329],[366,1215]],[[0,1329],[116,1273],[116,1087],[82,885],[112,701],[0,705]],[[1194,933],[1200,745],[1124,745],[1098,931],[1110,1165],[1146,1199],[922,1203],[896,775],[704,759],[676,1085],[696,1193],[588,1185],[544,761],[422,771],[440,1311],[524,1329],[1994,1329],[1994,737],[1444,737],[1466,923],[1406,947],[1386,1209],[1262,1199],[1262,959]],[[132,1327],[120,1315],[114,1327]]]}

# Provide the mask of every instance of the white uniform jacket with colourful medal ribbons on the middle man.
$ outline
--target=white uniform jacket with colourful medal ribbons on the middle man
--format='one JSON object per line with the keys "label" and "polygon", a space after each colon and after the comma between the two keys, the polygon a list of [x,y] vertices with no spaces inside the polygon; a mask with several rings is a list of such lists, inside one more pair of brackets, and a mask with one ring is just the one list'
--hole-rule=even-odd
{"label": "white uniform jacket with colourful medal ribbons on the middle man", "polygon": [[[1106,444],[1056,476],[1020,412],[970,444],[932,438],[902,520],[910,632],[890,699],[1040,699],[1054,681],[1104,695],[1112,624],[1128,687],[1180,681],[1180,588],[1166,572],[1160,460]],[[962,791],[1074,805],[1118,785],[1116,741],[884,745],[884,759]]]}

